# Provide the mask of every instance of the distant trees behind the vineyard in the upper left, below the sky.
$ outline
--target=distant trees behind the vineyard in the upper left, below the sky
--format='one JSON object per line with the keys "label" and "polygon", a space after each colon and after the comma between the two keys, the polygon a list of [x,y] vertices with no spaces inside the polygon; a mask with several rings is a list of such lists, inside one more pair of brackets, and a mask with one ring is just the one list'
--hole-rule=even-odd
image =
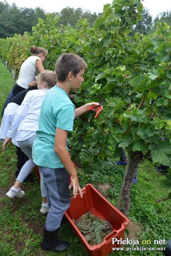
{"label": "distant trees behind the vineyard in the upper left, below the sky", "polygon": [[[67,7],[61,12],[53,13],[53,16],[57,15],[59,15],[58,24],[74,26],[78,20],[84,18],[90,23],[94,22],[100,13],[91,14],[89,10]],[[40,7],[19,8],[14,3],[10,5],[6,0],[0,1],[0,38],[12,37],[14,34],[23,35],[26,31],[32,34],[32,27],[38,24],[38,18],[46,21],[46,16],[47,13]]]}

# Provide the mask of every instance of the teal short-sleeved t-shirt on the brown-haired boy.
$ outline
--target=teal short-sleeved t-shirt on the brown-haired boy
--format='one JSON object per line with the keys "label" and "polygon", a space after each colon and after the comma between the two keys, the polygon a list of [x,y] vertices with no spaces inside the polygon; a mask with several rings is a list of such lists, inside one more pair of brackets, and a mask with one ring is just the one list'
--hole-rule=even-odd
{"label": "teal short-sleeved t-shirt on the brown-haired boy", "polygon": [[[51,88],[42,102],[37,137],[33,143],[32,157],[38,166],[49,168],[64,167],[54,152],[56,127],[66,131],[73,130],[75,106],[67,93],[60,87]],[[66,143],[66,148],[68,144]],[[67,148],[68,150],[68,148]]]}

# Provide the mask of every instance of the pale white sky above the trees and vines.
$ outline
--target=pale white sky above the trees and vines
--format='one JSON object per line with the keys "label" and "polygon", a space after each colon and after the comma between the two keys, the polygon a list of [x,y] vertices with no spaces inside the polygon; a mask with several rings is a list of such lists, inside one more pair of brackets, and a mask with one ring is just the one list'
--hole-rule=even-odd
{"label": "pale white sky above the trees and vines", "polygon": [[[4,2],[4,0],[1,0]],[[82,8],[89,10],[91,13],[103,12],[103,5],[111,4],[113,0],[6,0],[8,4],[15,3],[18,7],[33,8],[40,7],[46,12],[60,12],[62,9],[70,6],[74,9]],[[149,10],[153,18],[160,12],[171,11],[170,0],[144,0],[142,4]]]}

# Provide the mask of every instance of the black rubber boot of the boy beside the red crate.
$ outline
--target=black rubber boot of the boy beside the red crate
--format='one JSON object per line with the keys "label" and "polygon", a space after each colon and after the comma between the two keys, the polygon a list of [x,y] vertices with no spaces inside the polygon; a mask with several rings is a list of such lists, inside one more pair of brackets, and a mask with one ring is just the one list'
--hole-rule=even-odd
{"label": "black rubber boot of the boy beside the red crate", "polygon": [[48,231],[44,228],[43,241],[41,243],[41,248],[43,250],[52,252],[63,252],[70,246],[68,242],[58,239],[58,230],[59,228],[55,231]]}

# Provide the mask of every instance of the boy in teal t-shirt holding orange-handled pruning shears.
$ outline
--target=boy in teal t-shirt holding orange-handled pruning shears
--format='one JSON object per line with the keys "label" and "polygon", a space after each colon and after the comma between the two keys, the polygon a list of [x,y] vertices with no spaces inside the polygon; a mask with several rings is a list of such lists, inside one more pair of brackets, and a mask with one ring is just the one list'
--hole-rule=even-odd
{"label": "boy in teal t-shirt holding orange-handled pruning shears", "polygon": [[[39,129],[32,148],[33,161],[44,177],[47,189],[49,212],[44,226],[41,248],[61,252],[69,243],[58,240],[57,234],[64,212],[70,206],[70,189],[74,198],[82,190],[78,174],[68,153],[68,131],[72,131],[74,118],[98,102],[87,103],[75,109],[68,97],[70,90],[78,90],[84,82],[83,74],[87,64],[76,54],[64,53],[56,62],[57,85],[46,94],[40,111]],[[91,110],[96,111],[97,107]],[[102,110],[102,107],[101,107]],[[70,174],[71,183],[69,184]]]}

